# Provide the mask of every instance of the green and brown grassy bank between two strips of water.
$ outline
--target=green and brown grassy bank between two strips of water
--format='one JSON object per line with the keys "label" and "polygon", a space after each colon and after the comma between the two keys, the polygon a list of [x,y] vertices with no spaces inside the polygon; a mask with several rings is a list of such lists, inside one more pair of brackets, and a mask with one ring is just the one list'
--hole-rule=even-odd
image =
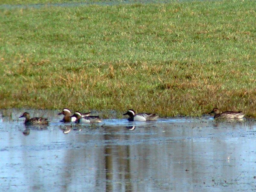
{"label": "green and brown grassy bank between two strips of water", "polygon": [[255,1],[0,12],[0,108],[256,116]]}

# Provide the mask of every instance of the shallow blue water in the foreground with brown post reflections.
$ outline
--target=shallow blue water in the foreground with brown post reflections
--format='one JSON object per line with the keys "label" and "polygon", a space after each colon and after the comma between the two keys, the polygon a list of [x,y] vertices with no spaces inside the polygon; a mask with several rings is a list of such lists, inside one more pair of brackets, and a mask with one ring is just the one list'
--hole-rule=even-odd
{"label": "shallow blue water in the foreground with brown post reflections", "polygon": [[[28,110],[31,116],[51,117],[51,122],[47,127],[25,127],[24,119],[18,118],[22,112],[0,110],[1,191],[252,191],[256,187],[253,120],[107,119],[78,126],[60,123],[58,111]],[[23,134],[26,128],[29,132]]]}

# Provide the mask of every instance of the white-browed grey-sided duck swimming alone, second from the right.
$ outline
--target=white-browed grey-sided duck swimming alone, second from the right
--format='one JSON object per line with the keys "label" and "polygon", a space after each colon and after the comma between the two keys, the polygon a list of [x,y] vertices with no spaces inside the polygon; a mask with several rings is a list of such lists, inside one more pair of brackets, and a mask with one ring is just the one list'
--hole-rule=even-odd
{"label": "white-browed grey-sided duck swimming alone, second from the right", "polygon": [[128,121],[155,121],[158,118],[156,113],[138,113],[135,114],[133,109],[129,109],[123,115],[129,115]]}

